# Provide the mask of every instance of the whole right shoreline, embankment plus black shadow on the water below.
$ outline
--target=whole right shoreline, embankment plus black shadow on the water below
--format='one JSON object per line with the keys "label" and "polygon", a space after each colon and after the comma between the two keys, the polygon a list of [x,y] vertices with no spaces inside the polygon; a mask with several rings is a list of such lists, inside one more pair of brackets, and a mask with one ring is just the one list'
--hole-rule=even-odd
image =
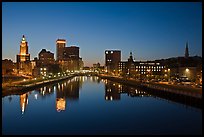
{"label": "whole right shoreline, embankment plus black shadow on the water below", "polygon": [[[187,106],[196,107],[202,109],[202,88],[195,90],[182,91],[181,87],[171,87],[171,85],[160,85],[156,83],[141,83],[135,80],[122,79],[111,76],[98,76],[101,79],[107,79],[113,82],[121,83],[130,87],[138,88],[151,94],[155,97],[159,97],[168,101],[181,103]],[[164,87],[167,90],[164,90]],[[168,88],[167,88],[168,87]],[[170,88],[170,89],[169,89]],[[176,90],[177,89],[177,90]]]}

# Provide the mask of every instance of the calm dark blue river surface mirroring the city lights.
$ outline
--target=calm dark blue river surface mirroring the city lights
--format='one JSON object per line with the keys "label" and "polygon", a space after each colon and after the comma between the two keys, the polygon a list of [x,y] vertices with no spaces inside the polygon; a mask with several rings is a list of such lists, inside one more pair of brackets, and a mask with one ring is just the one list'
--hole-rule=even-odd
{"label": "calm dark blue river surface mirroring the city lights", "polygon": [[202,134],[202,110],[98,77],[2,98],[3,134]]}

